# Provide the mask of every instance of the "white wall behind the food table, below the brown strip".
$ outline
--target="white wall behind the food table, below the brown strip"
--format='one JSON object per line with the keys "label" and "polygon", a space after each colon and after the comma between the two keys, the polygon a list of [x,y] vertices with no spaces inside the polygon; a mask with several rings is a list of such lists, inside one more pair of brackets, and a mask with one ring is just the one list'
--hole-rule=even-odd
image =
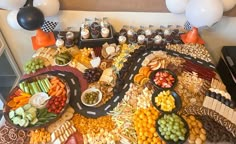
{"label": "white wall behind the food table, below the brown strip", "polygon": [[[31,58],[33,49],[31,46],[31,36],[35,32],[26,30],[14,30],[9,27],[6,21],[8,11],[0,10],[0,29],[22,70],[24,62]],[[138,12],[84,12],[84,11],[61,11],[58,16],[49,18],[62,22],[62,27],[74,27],[79,30],[84,18],[108,17],[109,21],[119,30],[123,25],[133,25],[139,27],[169,24],[183,25],[186,21],[184,15],[174,15],[170,13],[138,13]],[[210,30],[203,30],[201,35],[206,41],[206,46],[213,56],[215,62],[218,61],[220,50],[224,45],[236,45],[236,17],[224,17]]]}

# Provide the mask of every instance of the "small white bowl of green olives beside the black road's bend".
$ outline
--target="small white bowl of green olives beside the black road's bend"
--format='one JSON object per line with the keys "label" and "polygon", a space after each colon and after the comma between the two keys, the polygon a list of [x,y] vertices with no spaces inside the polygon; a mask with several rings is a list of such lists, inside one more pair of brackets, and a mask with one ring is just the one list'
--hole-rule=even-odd
{"label": "small white bowl of green olives beside the black road's bend", "polygon": [[[98,99],[97,99],[97,102],[93,103],[93,104],[88,104],[85,102],[85,95],[87,93],[91,93],[91,92],[98,92]],[[85,106],[88,106],[88,107],[94,107],[96,106],[97,104],[99,104],[102,100],[102,92],[97,89],[97,88],[89,88],[89,89],[86,89],[82,95],[81,95],[81,102],[85,105]]]}

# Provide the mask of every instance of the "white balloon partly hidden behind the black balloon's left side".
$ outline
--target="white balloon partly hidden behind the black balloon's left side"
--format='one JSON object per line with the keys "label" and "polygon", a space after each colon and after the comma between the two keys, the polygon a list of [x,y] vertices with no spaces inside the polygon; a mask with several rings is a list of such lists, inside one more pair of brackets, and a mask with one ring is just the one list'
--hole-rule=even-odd
{"label": "white balloon partly hidden behind the black balloon's left side", "polygon": [[8,13],[7,23],[14,29],[22,29],[22,27],[17,22],[17,13],[19,10],[14,10]]}

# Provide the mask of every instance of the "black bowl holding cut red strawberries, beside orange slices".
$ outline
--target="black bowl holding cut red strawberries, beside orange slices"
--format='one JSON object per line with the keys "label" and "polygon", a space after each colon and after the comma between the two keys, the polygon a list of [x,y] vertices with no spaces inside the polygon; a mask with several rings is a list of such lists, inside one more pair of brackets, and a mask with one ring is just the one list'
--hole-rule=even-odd
{"label": "black bowl holding cut red strawberries, beside orange slices", "polygon": [[[158,85],[158,84],[155,83],[154,77],[155,77],[156,73],[158,73],[158,72],[167,72],[167,73],[169,73],[170,75],[172,75],[172,77],[174,78],[174,82],[172,83],[172,86],[171,86],[171,87],[165,88],[165,87],[162,87],[162,86],[160,86],[160,85]],[[169,70],[169,69],[158,69],[158,70],[155,70],[155,71],[153,71],[153,72],[150,74],[150,77],[149,77],[149,78],[150,78],[151,82],[153,83],[153,85],[154,85],[155,87],[159,88],[159,89],[173,89],[173,88],[175,87],[176,83],[177,83],[177,76],[176,76],[176,74],[175,74],[174,72],[172,72],[171,70]]]}

